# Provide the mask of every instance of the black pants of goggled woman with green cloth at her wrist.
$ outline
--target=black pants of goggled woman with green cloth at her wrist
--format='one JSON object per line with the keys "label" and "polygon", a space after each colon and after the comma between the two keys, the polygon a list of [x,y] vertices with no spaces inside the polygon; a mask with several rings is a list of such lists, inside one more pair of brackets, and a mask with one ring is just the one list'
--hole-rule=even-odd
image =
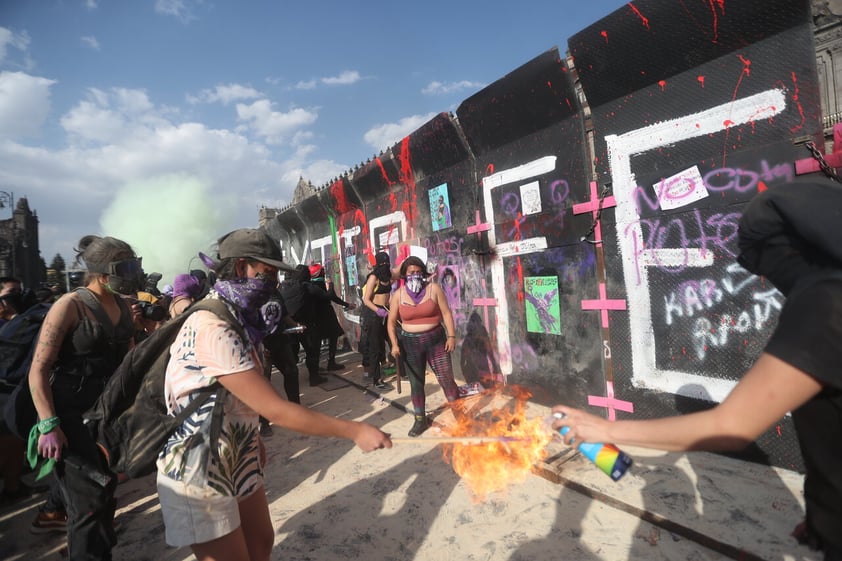
{"label": "black pants of goggled woman with green cloth at her wrist", "polygon": [[117,476],[105,465],[82,413],[102,393],[102,378],[57,376],[53,401],[67,436],[67,447],[55,474],[67,512],[67,550],[70,561],[111,561],[117,543],[114,533],[114,491]]}

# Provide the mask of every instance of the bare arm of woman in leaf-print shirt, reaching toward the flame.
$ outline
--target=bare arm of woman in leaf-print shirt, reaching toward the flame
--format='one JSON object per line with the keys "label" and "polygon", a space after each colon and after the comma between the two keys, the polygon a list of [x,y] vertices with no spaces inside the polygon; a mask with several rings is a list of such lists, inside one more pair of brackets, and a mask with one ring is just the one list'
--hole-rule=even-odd
{"label": "bare arm of woman in leaf-print shirt, reaching toward the flame", "polygon": [[363,452],[392,447],[389,435],[372,425],[330,417],[285,400],[259,368],[217,379],[243,403],[276,425],[302,434],[347,438]]}

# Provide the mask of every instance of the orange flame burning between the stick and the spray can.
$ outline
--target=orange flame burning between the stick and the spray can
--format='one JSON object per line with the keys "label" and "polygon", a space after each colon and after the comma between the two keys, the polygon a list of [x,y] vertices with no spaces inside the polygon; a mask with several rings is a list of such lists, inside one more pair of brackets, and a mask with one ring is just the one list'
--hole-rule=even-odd
{"label": "orange flame burning between the stick and the spray can", "polygon": [[[479,445],[444,445],[445,461],[465,480],[475,501],[525,481],[532,466],[547,457],[545,448],[553,434],[543,418],[526,419],[526,402],[531,396],[520,386],[501,386],[476,398],[456,401],[451,407],[456,418],[456,424],[446,431],[451,436],[507,438]],[[501,397],[507,401],[502,407],[475,413],[485,404],[499,402]]]}

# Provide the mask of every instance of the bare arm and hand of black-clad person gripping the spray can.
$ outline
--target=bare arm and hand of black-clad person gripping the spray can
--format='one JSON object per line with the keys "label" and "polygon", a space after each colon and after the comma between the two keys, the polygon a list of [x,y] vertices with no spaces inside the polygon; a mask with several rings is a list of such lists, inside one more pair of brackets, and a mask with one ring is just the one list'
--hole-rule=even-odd
{"label": "bare arm and hand of black-clad person gripping the spray can", "polygon": [[659,450],[739,450],[757,439],[787,412],[822,389],[807,373],[766,353],[721,404],[707,411],[642,421],[608,421],[557,405],[566,415],[553,427],[567,426],[565,442],[613,442]]}

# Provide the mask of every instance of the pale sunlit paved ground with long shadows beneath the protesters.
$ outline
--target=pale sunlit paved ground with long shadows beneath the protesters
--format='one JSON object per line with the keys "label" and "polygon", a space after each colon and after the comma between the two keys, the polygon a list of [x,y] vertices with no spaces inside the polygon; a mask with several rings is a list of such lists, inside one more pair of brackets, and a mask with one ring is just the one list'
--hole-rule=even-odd
{"label": "pale sunlit paved ground with long shadows beneath the protesters", "polygon": [[[374,393],[353,356],[330,383],[305,381],[302,402],[405,436],[408,384],[401,394],[394,384]],[[279,376],[273,383],[282,388]],[[427,388],[433,409],[443,397],[431,375]],[[546,413],[528,409],[529,417]],[[447,424],[448,416],[437,420]],[[552,443],[525,481],[477,502],[430,443],[363,454],[344,441],[276,428],[267,450],[277,560],[820,559],[788,536],[803,516],[798,474],[711,454],[628,449],[635,465],[615,483]],[[154,478],[120,485],[118,501],[115,560],[192,559],[164,543]],[[28,532],[38,503],[0,509],[0,559],[60,559],[60,535]]]}

